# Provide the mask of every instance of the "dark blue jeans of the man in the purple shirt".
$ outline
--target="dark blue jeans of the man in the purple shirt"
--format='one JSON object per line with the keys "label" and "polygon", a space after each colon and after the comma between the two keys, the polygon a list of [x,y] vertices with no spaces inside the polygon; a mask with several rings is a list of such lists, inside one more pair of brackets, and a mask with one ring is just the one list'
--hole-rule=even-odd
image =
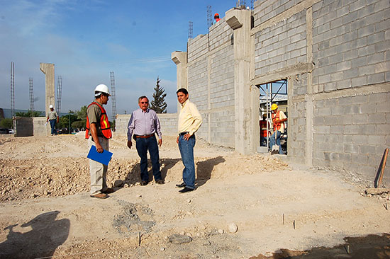
{"label": "dark blue jeans of the man in the purple shirt", "polygon": [[147,173],[147,150],[149,150],[150,160],[152,161],[153,176],[155,180],[162,180],[160,171],[160,156],[158,154],[158,145],[156,136],[144,139],[138,137],[135,140],[135,148],[140,156],[141,180],[149,182],[149,173]]}

